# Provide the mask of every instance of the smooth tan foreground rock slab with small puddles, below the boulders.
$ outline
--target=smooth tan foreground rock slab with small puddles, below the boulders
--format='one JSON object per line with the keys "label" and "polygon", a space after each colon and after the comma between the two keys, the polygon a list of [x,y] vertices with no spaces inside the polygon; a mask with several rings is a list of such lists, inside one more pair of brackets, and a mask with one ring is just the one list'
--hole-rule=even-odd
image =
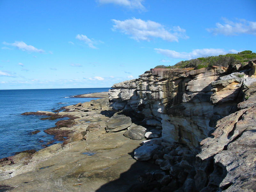
{"label": "smooth tan foreground rock slab with small puddles, below the boulders", "polygon": [[[102,128],[88,132],[87,140],[63,148],[58,145],[58,152],[49,158],[32,161],[11,174],[0,173],[5,179],[0,186],[10,192],[129,191],[132,185],[140,185],[137,178],[144,170],[153,171],[157,167],[131,157],[141,141],[124,137],[124,132],[106,133]],[[48,152],[40,155],[43,153]],[[33,158],[36,156],[39,154]]]}

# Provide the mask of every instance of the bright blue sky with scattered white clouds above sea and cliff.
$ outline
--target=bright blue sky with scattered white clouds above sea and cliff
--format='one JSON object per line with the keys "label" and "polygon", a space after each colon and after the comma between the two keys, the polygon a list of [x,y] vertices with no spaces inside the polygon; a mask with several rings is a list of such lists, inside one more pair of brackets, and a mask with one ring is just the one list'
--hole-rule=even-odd
{"label": "bright blue sky with scattered white clouds above sea and cliff", "polygon": [[256,52],[255,0],[0,0],[0,89],[97,88]]}

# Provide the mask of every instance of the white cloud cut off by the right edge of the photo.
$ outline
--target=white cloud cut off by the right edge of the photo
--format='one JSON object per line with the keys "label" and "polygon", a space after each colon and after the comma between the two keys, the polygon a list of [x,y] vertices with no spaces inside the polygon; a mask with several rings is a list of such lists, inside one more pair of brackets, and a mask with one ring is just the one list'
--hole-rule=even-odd
{"label": "white cloud cut off by the right edge of the photo", "polygon": [[216,28],[207,28],[213,35],[223,34],[226,36],[238,34],[256,35],[256,22],[239,19],[237,22],[222,18],[223,24],[216,23]]}

